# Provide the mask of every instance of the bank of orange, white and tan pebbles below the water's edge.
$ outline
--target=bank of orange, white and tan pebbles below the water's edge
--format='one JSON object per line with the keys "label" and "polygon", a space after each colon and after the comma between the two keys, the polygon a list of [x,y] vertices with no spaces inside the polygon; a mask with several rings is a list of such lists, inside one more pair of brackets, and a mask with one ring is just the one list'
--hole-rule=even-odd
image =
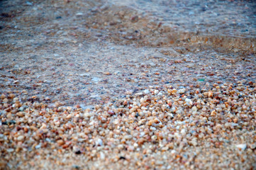
{"label": "bank of orange, white and tan pebbles below the water's edge", "polygon": [[[122,160],[123,166],[148,169],[175,165],[221,169],[227,168],[227,163],[233,169],[253,169],[256,87],[252,81],[245,84],[206,83],[201,89],[162,86],[134,95],[128,91],[126,98],[116,103],[86,110],[59,102],[54,107],[36,101],[21,103],[11,92],[1,94],[1,166],[17,161],[13,155],[52,150],[72,151],[85,157],[85,162],[100,160],[108,166]],[[195,151],[189,152],[191,149]],[[220,164],[211,159],[201,164],[201,154],[212,149],[228,149],[227,158]],[[113,154],[116,156],[108,157]],[[33,167],[26,161],[22,165]],[[21,164],[9,168],[18,166]]]}

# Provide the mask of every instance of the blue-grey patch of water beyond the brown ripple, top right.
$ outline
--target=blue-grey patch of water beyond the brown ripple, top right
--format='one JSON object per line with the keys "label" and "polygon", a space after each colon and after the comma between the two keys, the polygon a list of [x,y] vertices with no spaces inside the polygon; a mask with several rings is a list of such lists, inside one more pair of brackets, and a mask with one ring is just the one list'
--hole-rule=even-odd
{"label": "blue-grey patch of water beyond the brown ripple, top right", "polygon": [[129,6],[165,21],[184,31],[229,36],[256,36],[255,1],[117,1],[114,5]]}

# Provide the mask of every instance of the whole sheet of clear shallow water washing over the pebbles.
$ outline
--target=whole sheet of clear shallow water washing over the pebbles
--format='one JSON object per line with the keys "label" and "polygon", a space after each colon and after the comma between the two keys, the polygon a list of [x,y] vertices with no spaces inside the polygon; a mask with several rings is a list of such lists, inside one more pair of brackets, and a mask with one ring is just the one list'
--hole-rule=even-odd
{"label": "whole sheet of clear shallow water washing over the pebbles", "polygon": [[255,80],[252,1],[18,2],[1,2],[0,82],[21,100],[86,108],[149,86]]}

